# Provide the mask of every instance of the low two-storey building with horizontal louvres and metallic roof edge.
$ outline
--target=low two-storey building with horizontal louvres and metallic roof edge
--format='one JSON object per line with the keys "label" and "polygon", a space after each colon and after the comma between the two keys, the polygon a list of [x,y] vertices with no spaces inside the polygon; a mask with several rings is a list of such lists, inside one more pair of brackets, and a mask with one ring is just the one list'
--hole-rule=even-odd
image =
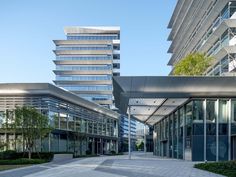
{"label": "low two-storey building with horizontal louvres and metallic roof edge", "polygon": [[52,132],[38,140],[39,151],[85,155],[118,152],[119,114],[47,83],[0,84],[0,141],[22,151],[21,134],[4,128],[6,112],[32,106],[48,116]]}

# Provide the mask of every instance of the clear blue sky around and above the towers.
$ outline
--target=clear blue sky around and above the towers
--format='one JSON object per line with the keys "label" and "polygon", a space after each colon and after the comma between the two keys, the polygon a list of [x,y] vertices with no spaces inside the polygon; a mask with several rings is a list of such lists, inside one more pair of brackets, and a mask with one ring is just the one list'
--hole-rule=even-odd
{"label": "clear blue sky around and above the towers", "polygon": [[120,26],[121,75],[168,75],[176,0],[1,0],[0,82],[52,82],[64,26]]}

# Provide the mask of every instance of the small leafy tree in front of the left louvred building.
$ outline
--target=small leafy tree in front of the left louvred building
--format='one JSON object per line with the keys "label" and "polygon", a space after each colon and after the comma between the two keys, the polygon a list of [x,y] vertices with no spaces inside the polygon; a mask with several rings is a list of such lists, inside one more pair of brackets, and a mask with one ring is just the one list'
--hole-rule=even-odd
{"label": "small leafy tree in front of the left louvred building", "polygon": [[29,159],[36,140],[45,137],[51,131],[48,117],[27,106],[16,108],[13,129],[22,133]]}

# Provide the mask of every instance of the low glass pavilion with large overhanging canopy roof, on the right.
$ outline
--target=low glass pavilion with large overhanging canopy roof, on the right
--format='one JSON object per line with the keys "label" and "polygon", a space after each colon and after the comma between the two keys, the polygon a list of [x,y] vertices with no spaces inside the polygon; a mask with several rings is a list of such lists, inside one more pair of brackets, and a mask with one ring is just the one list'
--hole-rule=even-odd
{"label": "low glass pavilion with large overhanging canopy roof, on the right", "polygon": [[235,77],[114,77],[115,105],[154,127],[154,154],[236,160]]}

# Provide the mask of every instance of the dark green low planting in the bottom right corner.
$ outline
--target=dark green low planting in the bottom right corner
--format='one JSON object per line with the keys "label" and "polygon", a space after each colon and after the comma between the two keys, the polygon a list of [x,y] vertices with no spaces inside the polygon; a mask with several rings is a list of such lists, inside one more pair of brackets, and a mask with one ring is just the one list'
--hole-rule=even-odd
{"label": "dark green low planting in the bottom right corner", "polygon": [[194,167],[228,177],[236,177],[236,161],[199,163]]}

